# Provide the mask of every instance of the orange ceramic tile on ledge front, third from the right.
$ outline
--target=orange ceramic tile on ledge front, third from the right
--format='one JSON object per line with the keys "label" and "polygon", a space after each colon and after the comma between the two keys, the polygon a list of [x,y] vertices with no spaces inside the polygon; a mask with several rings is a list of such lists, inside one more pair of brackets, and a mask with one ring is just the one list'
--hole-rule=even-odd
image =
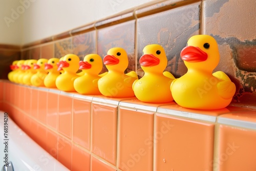
{"label": "orange ceramic tile on ledge front, third from the right", "polygon": [[154,112],[120,108],[119,168],[124,171],[153,170]]}

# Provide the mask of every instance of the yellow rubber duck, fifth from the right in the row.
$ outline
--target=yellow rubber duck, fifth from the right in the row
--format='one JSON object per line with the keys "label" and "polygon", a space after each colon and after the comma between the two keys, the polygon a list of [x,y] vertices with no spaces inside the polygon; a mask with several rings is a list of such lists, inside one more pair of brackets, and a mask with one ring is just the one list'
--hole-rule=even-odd
{"label": "yellow rubber duck, fifth from the right in the row", "polygon": [[59,90],[66,92],[74,92],[74,80],[78,77],[76,74],[79,69],[79,57],[74,54],[68,54],[63,57],[62,61],[59,61],[59,68],[64,70],[64,73],[60,74],[56,78],[56,87]]}

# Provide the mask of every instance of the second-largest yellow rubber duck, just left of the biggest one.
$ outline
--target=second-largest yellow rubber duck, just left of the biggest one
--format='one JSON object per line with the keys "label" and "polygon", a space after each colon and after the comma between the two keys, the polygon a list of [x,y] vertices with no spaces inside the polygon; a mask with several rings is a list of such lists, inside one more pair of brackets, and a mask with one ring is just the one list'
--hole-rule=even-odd
{"label": "second-largest yellow rubber duck, just left of the biggest one", "polygon": [[160,45],[147,45],[140,57],[140,66],[144,76],[133,83],[135,96],[143,102],[163,103],[173,101],[170,84],[175,77],[165,71],[167,58]]}

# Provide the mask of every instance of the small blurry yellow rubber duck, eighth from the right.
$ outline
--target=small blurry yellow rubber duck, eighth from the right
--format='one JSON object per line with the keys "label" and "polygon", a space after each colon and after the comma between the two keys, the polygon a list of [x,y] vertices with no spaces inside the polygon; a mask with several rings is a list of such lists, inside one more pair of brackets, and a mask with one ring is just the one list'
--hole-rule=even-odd
{"label": "small blurry yellow rubber duck, eighth from the right", "polygon": [[36,59],[30,59],[27,63],[27,66],[25,68],[26,73],[23,76],[22,82],[23,84],[31,86],[31,77],[36,73],[36,70],[34,69],[34,65],[36,64]]}

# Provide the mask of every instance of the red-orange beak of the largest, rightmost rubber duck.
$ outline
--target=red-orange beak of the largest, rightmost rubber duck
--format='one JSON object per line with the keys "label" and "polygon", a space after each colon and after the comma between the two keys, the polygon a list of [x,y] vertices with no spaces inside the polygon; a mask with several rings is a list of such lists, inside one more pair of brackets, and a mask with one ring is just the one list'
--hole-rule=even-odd
{"label": "red-orange beak of the largest, rightmost rubber duck", "polygon": [[198,47],[187,46],[180,53],[181,59],[187,62],[202,62],[208,57],[207,53]]}

